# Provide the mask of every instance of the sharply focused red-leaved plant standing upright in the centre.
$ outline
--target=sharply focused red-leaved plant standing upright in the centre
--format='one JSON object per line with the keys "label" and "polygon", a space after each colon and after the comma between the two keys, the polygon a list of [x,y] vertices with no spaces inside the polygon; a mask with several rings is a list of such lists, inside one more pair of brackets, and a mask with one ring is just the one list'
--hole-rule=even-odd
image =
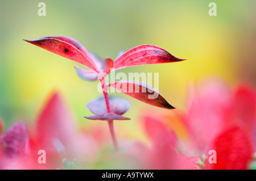
{"label": "sharply focused red-leaved plant standing upright in the centre", "polygon": [[[76,61],[84,65],[88,69],[81,69],[75,66],[76,72],[81,79],[85,81],[101,82],[102,92],[104,97],[92,100],[87,104],[88,109],[94,113],[93,116],[85,116],[90,120],[106,120],[109,124],[110,133],[112,135],[114,148],[119,150],[117,138],[115,137],[113,120],[130,120],[128,117],[122,116],[130,108],[130,103],[123,98],[108,96],[109,87],[132,96],[135,99],[141,100],[144,103],[153,106],[173,109],[159,94],[158,91],[145,85],[142,82],[134,81],[119,81],[112,82],[106,85],[105,78],[111,71],[127,68],[130,66],[161,64],[168,62],[183,61],[185,59],[177,58],[167,50],[155,45],[139,45],[127,52],[121,54],[115,61],[111,58],[100,60],[94,53],[89,53],[79,41],[67,36],[44,36],[39,39],[25,40],[28,43],[49,50],[50,52],[59,54],[65,58]],[[154,94],[154,98],[150,95]]]}

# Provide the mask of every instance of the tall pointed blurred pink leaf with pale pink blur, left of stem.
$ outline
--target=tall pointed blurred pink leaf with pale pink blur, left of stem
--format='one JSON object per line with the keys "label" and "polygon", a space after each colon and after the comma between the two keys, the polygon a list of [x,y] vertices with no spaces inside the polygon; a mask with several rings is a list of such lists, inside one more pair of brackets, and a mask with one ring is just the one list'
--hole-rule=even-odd
{"label": "tall pointed blurred pink leaf with pale pink blur, left of stem", "polygon": [[[68,160],[93,159],[97,155],[96,140],[86,132],[75,131],[75,121],[59,92],[52,92],[36,122],[35,136],[31,139],[34,153],[43,149],[47,169],[63,168],[63,158]],[[37,158],[36,158],[37,162]]]}

